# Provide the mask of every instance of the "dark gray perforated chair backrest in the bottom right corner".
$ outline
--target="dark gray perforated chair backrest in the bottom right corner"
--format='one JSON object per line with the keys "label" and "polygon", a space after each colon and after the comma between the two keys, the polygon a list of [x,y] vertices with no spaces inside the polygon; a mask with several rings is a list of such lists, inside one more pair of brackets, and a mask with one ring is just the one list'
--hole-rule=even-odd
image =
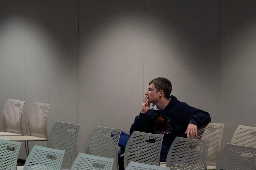
{"label": "dark gray perforated chair backrest in the bottom right corner", "polygon": [[255,169],[256,148],[226,144],[218,159],[216,170]]}

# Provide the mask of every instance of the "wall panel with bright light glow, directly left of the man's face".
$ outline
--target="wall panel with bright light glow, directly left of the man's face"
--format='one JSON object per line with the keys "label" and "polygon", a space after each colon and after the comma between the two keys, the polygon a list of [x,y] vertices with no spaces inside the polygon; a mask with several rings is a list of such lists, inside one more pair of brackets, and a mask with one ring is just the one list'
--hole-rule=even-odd
{"label": "wall panel with bright light glow, directly left of the man's face", "polygon": [[79,152],[94,125],[130,129],[143,99],[143,1],[79,1]]}

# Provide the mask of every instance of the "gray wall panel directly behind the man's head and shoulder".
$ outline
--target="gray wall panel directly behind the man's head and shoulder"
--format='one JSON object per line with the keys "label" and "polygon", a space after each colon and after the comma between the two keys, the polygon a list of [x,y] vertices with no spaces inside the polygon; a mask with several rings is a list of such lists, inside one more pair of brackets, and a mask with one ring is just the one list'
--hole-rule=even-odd
{"label": "gray wall panel directly behind the man's head and shoulder", "polygon": [[144,91],[170,79],[174,96],[218,122],[219,1],[145,1]]}

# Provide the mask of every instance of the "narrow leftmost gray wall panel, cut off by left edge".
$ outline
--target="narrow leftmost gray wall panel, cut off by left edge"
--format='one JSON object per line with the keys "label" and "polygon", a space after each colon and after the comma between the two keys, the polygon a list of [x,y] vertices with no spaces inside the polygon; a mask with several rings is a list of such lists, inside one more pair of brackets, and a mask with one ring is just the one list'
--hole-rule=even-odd
{"label": "narrow leftmost gray wall panel, cut off by left edge", "polygon": [[[0,113],[11,98],[25,100],[26,1],[0,1]],[[25,108],[22,122],[25,122]],[[2,131],[2,116],[0,116]],[[23,130],[25,123],[23,123]],[[24,150],[22,144],[21,151]],[[25,150],[24,150],[25,151]],[[20,156],[23,154],[20,153]]]}

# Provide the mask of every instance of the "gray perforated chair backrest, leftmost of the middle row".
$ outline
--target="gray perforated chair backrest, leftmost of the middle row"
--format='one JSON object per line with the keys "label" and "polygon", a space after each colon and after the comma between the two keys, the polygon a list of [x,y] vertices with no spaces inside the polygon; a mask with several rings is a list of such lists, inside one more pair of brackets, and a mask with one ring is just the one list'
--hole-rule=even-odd
{"label": "gray perforated chair backrest, leftmost of the middle row", "polygon": [[77,137],[81,124],[56,122],[47,142],[48,148],[65,150],[62,167],[70,168],[76,159]]}

